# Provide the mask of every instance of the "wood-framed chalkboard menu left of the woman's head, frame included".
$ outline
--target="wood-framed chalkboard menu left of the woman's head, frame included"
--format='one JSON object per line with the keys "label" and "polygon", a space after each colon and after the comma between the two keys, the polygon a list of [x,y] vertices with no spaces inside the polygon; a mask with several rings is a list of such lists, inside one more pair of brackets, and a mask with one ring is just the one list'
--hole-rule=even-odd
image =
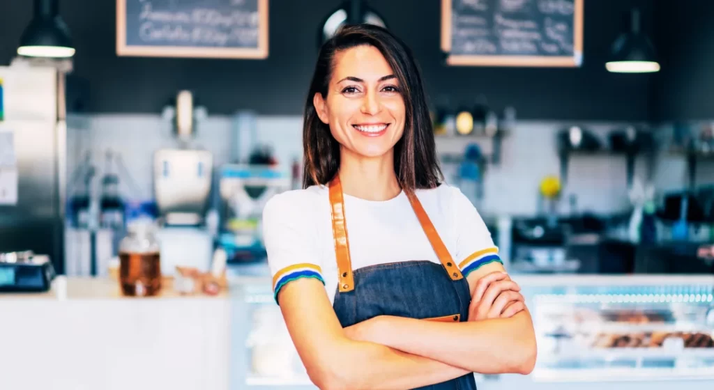
{"label": "wood-framed chalkboard menu left of the woman's head, frame included", "polygon": [[116,0],[116,53],[266,58],[268,0]]}

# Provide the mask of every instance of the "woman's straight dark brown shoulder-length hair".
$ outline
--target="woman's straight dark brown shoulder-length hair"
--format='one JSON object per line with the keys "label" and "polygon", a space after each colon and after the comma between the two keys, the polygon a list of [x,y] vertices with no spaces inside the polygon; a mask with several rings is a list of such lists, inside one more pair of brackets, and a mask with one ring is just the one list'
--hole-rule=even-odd
{"label": "woman's straight dark brown shoulder-length hair", "polygon": [[325,185],[340,167],[340,144],[317,116],[313,96],[327,97],[339,51],[369,45],[381,51],[398,78],[404,104],[404,133],[394,145],[394,173],[403,190],[435,188],[443,180],[421,72],[411,50],[386,29],[371,24],[344,26],[320,48],[303,116],[303,188]]}

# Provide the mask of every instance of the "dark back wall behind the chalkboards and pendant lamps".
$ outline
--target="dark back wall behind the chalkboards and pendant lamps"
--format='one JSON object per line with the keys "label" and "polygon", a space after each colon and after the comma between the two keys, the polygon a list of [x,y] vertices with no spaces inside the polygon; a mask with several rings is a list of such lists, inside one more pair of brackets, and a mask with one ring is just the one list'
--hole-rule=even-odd
{"label": "dark back wall behind the chalkboards and pendant lamps", "polygon": [[[32,1],[4,0],[0,12],[0,63],[9,63]],[[453,105],[484,94],[520,118],[644,120],[653,76],[615,75],[604,68],[610,44],[633,4],[651,29],[653,1],[585,1],[582,68],[447,67],[439,51],[440,1],[372,0],[393,31],[413,48],[431,98]],[[61,14],[76,42],[72,86],[84,86],[82,109],[101,113],[159,113],[180,88],[191,88],[211,113],[253,108],[261,114],[299,114],[317,54],[318,24],[338,0],[270,1],[270,57],[265,61],[126,58],[115,54],[114,1],[61,0]],[[415,6],[420,4],[420,6]],[[74,89],[73,91],[80,91]]]}

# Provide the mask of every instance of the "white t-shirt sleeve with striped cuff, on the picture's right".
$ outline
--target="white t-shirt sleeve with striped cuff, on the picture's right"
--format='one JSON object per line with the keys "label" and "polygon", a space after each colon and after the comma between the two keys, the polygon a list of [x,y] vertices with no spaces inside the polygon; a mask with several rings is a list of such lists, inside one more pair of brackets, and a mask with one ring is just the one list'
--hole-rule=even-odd
{"label": "white t-shirt sleeve with striped cuff, on the picture's right", "polygon": [[456,220],[456,261],[463,277],[491,262],[503,264],[486,223],[458,188],[453,188],[451,207]]}

